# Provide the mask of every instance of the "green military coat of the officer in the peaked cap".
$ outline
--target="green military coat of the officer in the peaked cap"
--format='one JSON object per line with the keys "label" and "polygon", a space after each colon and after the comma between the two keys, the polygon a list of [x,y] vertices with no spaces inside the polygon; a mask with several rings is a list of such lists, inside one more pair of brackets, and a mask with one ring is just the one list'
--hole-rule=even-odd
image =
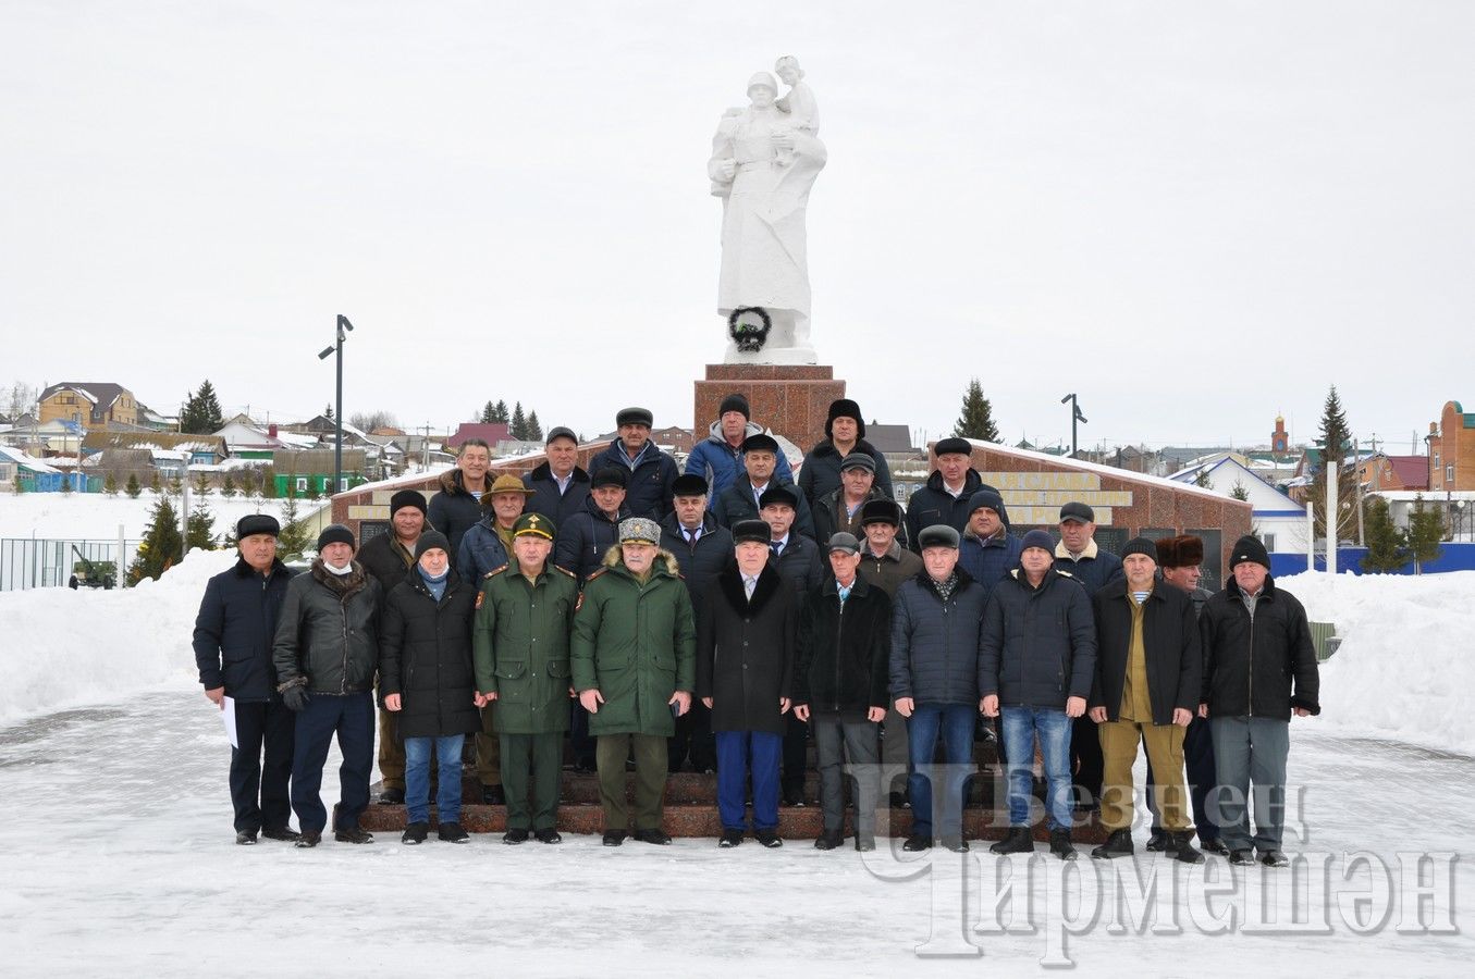
{"label": "green military coat of the officer in the peaked cap", "polygon": [[472,622],[476,690],[497,693],[499,734],[568,730],[569,634],[578,581],[552,563],[530,582],[518,559],[481,579]]}

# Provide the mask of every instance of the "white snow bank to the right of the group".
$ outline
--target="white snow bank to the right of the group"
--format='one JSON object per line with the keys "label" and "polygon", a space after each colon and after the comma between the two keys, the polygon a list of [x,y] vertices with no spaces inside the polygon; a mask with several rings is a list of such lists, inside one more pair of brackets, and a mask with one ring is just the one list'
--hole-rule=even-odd
{"label": "white snow bank to the right of the group", "polygon": [[1276,582],[1341,649],[1322,663],[1322,717],[1341,734],[1475,755],[1475,571],[1440,575],[1299,574]]}

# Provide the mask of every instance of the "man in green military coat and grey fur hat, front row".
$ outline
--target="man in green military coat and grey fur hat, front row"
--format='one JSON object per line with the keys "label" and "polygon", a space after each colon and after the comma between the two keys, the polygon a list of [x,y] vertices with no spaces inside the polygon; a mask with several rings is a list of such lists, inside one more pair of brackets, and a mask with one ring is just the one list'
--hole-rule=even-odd
{"label": "man in green military coat and grey fur hat, front row", "polygon": [[646,518],[620,525],[620,546],[589,578],[574,615],[574,689],[599,739],[599,799],[605,846],[625,842],[625,756],[636,758],[636,839],[664,845],[661,829],[667,739],[692,708],[696,621],[676,556],[658,547]]}

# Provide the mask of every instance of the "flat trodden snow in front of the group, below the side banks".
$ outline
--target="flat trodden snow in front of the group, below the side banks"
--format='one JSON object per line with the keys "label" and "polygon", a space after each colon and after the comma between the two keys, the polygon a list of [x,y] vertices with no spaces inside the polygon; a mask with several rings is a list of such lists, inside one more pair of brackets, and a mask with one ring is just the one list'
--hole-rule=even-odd
{"label": "flat trodden snow in front of the group, below the side banks", "polygon": [[[978,876],[960,927],[947,913],[950,898],[932,891],[945,889],[943,871],[897,880],[906,868],[884,849],[864,861],[853,849],[814,851],[810,840],[788,840],[780,851],[718,851],[705,839],[606,849],[586,836],[518,848],[497,836],[476,836],[468,846],[432,836],[407,848],[381,835],[370,846],[332,839],[313,851],[271,840],[236,846],[218,715],[198,691],[152,693],[0,728],[3,972],[956,976],[1000,964],[1032,972],[1065,955],[1092,975],[1245,976],[1257,967],[1282,975],[1469,975],[1471,759],[1333,737],[1314,721],[1298,721],[1292,739],[1292,780],[1304,786],[1310,833],[1307,840],[1288,836],[1286,849],[1329,855],[1320,877],[1329,877],[1330,892],[1313,873],[1310,898],[1311,917],[1329,929],[1245,927],[1264,914],[1242,908],[1238,924],[1207,935],[1204,913],[1193,907],[1202,904],[1205,868],[1139,854],[1134,867],[1156,867],[1159,883],[1168,870],[1177,873],[1176,898],[1155,905],[1159,924],[1177,921],[1170,933],[1155,933],[1150,917],[1146,929],[1130,921],[1124,932],[1109,927],[1112,901],[1105,899],[1094,924],[1066,935],[1058,921],[1065,913],[1049,908],[1050,877],[1062,864],[1046,857],[1034,858],[1028,892],[1043,908],[1034,932],[979,933],[981,921],[990,927],[993,901],[978,899]],[[324,796],[332,802],[335,795],[330,759]],[[971,873],[982,868],[985,882],[999,864],[1027,865],[1028,858],[1010,864],[975,843],[968,858]],[[1347,851],[1370,851],[1389,880],[1344,876]],[[1425,924],[1453,920],[1457,933],[1395,930],[1407,924],[1409,905],[1398,891],[1397,854],[1415,851],[1460,854],[1438,864],[1448,883],[1423,899]],[[956,876],[962,863],[947,860]],[[1084,852],[1075,864],[1105,880],[1122,865],[1133,867]],[[1217,858],[1207,867],[1220,892],[1230,892],[1212,905],[1220,910],[1236,902],[1235,892],[1291,879],[1286,870],[1258,865],[1232,877]],[[1426,868],[1425,876],[1438,873]],[[1072,895],[1080,883],[1071,885]],[[1369,893],[1375,904],[1389,902],[1388,917],[1373,933],[1357,935],[1344,905]],[[1295,901],[1271,892],[1268,904],[1285,913]],[[981,958],[917,955],[929,938],[929,951],[966,951],[965,933]]]}

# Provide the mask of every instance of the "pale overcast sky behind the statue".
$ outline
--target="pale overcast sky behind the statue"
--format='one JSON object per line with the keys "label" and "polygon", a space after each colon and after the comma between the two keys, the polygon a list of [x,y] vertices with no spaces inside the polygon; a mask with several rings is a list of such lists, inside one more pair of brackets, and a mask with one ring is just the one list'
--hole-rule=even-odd
{"label": "pale overcast sky behind the statue", "polygon": [[[820,7],[820,9],[807,9]],[[813,335],[937,438],[1409,451],[1475,407],[1475,4],[0,0],[0,383],[692,423],[705,162],[794,53]],[[761,419],[760,419],[761,420]]]}

